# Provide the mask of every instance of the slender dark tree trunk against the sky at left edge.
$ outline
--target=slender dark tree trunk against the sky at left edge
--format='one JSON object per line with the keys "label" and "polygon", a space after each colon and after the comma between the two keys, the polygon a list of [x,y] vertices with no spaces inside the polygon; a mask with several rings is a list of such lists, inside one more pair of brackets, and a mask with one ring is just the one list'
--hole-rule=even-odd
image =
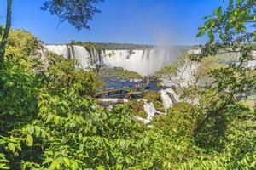
{"label": "slender dark tree trunk against the sky at left edge", "polygon": [[7,0],[6,23],[5,23],[5,29],[3,32],[2,41],[0,42],[0,65],[3,63],[3,59],[4,59],[5,46],[9,37],[11,20],[12,20],[12,0]]}

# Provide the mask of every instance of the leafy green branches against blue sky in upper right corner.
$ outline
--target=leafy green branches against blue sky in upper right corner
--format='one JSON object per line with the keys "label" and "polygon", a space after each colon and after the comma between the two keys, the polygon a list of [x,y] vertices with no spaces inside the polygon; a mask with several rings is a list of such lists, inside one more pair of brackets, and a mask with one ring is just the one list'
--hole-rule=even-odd
{"label": "leafy green branches against blue sky in upper right corner", "polygon": [[199,27],[197,37],[207,32],[211,43],[216,34],[221,41],[228,43],[234,37],[240,42],[255,41],[255,25],[251,25],[256,21],[255,7],[255,0],[230,0],[227,8],[218,7],[212,15],[205,17],[207,21],[204,26]]}

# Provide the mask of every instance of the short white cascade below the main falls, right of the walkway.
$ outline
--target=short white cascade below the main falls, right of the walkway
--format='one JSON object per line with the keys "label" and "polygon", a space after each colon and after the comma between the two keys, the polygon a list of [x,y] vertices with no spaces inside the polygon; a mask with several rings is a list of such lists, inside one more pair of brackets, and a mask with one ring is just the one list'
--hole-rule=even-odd
{"label": "short white cascade below the main falls, right of the walkway", "polygon": [[174,92],[174,90],[172,90],[172,88],[160,90],[160,93],[161,100],[166,110],[170,108],[172,104],[177,103],[179,101],[177,94]]}

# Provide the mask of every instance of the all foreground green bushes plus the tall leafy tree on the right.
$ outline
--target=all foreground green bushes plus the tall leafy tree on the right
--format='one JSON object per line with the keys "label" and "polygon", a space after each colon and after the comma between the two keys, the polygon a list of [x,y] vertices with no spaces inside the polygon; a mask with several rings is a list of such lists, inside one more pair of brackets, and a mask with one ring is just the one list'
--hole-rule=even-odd
{"label": "all foreground green bushes plus the tall leafy tree on the right", "polygon": [[[158,72],[172,79],[179,66],[200,65],[191,82],[175,84],[182,101],[152,128],[128,106],[96,105],[94,72],[56,54],[42,57],[37,38],[11,31],[0,70],[0,169],[255,169],[256,72],[242,66],[255,50],[255,26],[243,27],[255,23],[255,3],[218,8],[200,28],[210,37],[201,54]],[[240,52],[238,62],[219,65],[215,57],[226,51]]]}

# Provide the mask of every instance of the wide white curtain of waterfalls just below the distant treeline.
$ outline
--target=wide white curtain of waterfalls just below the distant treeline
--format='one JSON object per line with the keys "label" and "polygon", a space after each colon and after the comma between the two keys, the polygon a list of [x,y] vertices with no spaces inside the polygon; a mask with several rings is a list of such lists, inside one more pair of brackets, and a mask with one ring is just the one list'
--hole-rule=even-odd
{"label": "wide white curtain of waterfalls just below the distant treeline", "polygon": [[[122,67],[146,76],[169,65],[181,54],[175,48],[154,48],[140,50],[102,50],[75,45],[46,45],[48,51],[63,55],[66,59],[77,59],[79,67],[85,69],[92,62],[109,68]],[[108,56],[108,54],[113,54]],[[104,56],[104,57],[102,57]]]}

